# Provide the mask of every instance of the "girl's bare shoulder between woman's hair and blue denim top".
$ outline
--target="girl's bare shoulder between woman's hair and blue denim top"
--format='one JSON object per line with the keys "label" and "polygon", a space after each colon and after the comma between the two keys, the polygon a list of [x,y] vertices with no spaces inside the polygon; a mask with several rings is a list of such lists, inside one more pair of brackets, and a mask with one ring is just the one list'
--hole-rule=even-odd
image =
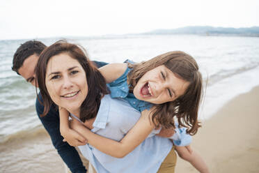
{"label": "girl's bare shoulder between woman's hair and blue denim top", "polygon": [[106,83],[109,84],[114,80],[117,80],[118,77],[123,75],[125,70],[127,69],[127,63],[111,63],[106,66],[102,66],[98,68],[100,73],[104,76]]}

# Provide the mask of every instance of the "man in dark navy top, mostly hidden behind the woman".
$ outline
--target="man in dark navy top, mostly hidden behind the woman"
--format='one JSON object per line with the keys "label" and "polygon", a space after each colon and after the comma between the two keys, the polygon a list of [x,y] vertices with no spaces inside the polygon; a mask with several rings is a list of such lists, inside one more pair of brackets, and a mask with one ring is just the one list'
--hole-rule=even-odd
{"label": "man in dark navy top, mostly hidden behind the woman", "polygon": [[[18,75],[24,77],[26,82],[31,83],[33,86],[37,87],[35,68],[38,63],[38,58],[42,50],[44,50],[46,45],[36,40],[29,40],[20,45],[13,56],[13,67],[12,70]],[[95,61],[97,67],[106,65],[107,63]],[[40,94],[39,97],[41,98]],[[86,172],[79,153],[77,150],[70,146],[67,142],[63,142],[63,137],[61,136],[59,130],[59,114],[55,105],[52,105],[48,114],[44,117],[40,117],[44,107],[38,99],[36,99],[36,111],[42,125],[49,133],[52,139],[52,144],[58,151],[59,156],[63,159],[66,165],[70,168],[71,172]]]}

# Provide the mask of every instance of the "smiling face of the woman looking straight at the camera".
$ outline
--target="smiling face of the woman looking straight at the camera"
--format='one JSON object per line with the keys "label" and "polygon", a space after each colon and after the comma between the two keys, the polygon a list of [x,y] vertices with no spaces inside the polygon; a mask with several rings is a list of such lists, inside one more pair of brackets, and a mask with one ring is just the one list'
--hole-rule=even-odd
{"label": "smiling face of the woman looking straight at the camera", "polygon": [[45,83],[54,103],[69,112],[79,111],[88,93],[84,68],[66,53],[49,59]]}

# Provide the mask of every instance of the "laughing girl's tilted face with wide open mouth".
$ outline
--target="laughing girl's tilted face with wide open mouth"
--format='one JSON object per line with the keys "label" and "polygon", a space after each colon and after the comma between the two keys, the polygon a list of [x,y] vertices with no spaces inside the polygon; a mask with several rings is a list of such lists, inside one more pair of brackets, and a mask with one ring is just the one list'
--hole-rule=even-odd
{"label": "laughing girl's tilted face with wide open mouth", "polygon": [[182,96],[189,82],[182,80],[166,68],[158,66],[141,77],[134,87],[134,96],[146,102],[162,104]]}

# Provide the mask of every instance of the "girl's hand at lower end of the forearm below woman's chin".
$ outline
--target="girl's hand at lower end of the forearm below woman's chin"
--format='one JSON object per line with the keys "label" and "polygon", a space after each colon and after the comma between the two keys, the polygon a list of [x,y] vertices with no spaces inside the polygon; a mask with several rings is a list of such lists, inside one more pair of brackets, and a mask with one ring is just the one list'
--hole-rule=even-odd
{"label": "girl's hand at lower end of the forearm below woman's chin", "polygon": [[87,140],[77,133],[77,131],[72,130],[71,128],[68,128],[65,130],[62,134],[64,137],[63,142],[68,142],[71,146],[80,146],[80,145],[85,145],[87,144]]}

